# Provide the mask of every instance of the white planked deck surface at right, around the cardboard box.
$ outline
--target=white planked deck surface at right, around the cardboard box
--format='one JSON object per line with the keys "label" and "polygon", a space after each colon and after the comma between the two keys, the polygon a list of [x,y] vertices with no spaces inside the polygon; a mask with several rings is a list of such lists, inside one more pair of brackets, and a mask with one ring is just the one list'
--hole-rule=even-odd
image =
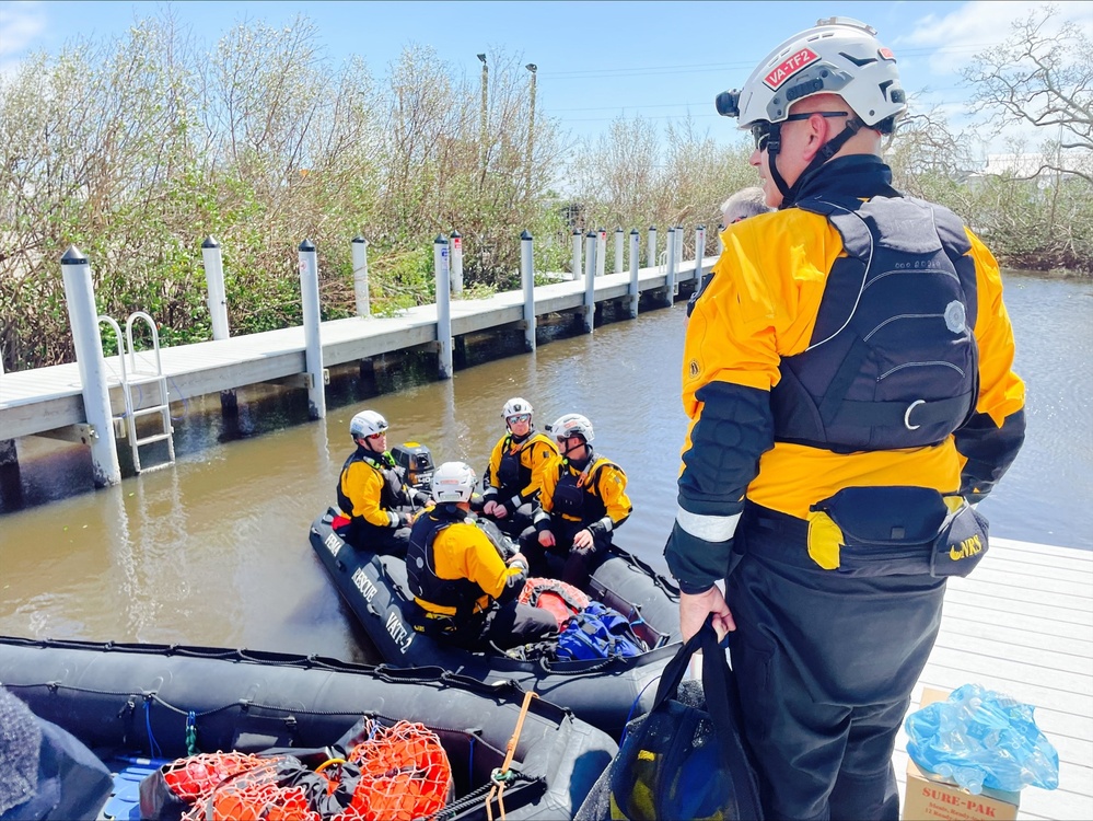
{"label": "white planked deck surface at right, around the cardboard box", "polygon": [[[1058,789],[1023,789],[1018,818],[1093,818],[1093,553],[992,536],[976,571],[949,582],[915,706],[925,686],[969,683],[1034,705],[1059,752]],[[902,799],[903,731],[895,766]]]}

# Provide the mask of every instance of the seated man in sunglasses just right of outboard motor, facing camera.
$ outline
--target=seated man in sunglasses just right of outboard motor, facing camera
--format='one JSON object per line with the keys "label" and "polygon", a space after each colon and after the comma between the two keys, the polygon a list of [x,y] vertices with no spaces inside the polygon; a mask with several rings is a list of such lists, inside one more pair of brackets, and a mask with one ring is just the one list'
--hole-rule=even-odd
{"label": "seated man in sunglasses just right of outboard motor, facing camera", "polygon": [[482,516],[511,536],[519,536],[532,523],[539,496],[543,465],[558,455],[550,437],[535,432],[532,403],[514,396],[501,408],[505,428],[489,458],[482,478]]}

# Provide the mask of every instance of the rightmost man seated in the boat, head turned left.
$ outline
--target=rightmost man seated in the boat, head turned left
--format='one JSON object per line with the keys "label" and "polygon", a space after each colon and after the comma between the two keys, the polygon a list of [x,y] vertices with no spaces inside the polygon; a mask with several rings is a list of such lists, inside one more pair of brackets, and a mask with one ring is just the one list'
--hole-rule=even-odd
{"label": "rightmost man seated in the boat, head turned left", "polygon": [[633,509],[623,469],[592,450],[592,423],[566,414],[550,426],[559,455],[544,465],[534,525],[520,536],[536,576],[550,576],[546,554],[565,557],[561,580],[584,590],[612,533]]}

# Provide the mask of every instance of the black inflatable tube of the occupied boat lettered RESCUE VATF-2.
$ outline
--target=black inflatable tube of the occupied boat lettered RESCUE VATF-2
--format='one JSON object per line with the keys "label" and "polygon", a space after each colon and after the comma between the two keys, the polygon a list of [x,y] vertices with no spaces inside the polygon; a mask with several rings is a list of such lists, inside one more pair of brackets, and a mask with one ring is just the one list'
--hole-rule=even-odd
{"label": "black inflatable tube of the occupied boat lettered RESCUE VATF-2", "polygon": [[410,626],[412,595],[406,563],[354,550],[334,532],[332,522],[333,512],[315,520],[312,547],[389,664],[437,664],[480,681],[515,681],[618,738],[631,713],[649,709],[656,687],[647,685],[660,678],[678,649],[678,588],[617,547],[596,569],[585,592],[627,616],[638,637],[653,648],[648,652],[593,661],[524,661],[431,639]]}

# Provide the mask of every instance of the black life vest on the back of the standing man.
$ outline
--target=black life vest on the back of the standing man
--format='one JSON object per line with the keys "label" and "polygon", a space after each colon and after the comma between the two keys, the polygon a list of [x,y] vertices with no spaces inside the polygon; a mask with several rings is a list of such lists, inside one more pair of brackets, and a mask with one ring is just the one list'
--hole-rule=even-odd
{"label": "black life vest on the back of the standing man", "polygon": [[781,360],[775,439],[836,453],[934,444],[975,410],[975,263],[961,220],[911,197],[805,199],[842,236],[807,350]]}

